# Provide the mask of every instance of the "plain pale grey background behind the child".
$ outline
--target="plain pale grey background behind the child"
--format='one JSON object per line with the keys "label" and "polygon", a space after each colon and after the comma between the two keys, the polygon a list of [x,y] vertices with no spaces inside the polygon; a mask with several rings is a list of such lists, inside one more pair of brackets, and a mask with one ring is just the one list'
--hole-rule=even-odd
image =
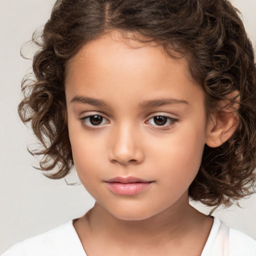
{"label": "plain pale grey background behind the child", "polygon": [[[82,185],[45,178],[26,150],[32,133],[17,114],[20,81],[31,65],[20,46],[49,17],[54,0],[0,0],[0,253],[12,244],[84,214],[94,203]],[[232,0],[256,42],[256,0]],[[31,56],[32,49],[26,51]],[[74,178],[69,177],[69,182]],[[214,215],[256,238],[256,196]],[[209,209],[196,204],[204,212]]]}

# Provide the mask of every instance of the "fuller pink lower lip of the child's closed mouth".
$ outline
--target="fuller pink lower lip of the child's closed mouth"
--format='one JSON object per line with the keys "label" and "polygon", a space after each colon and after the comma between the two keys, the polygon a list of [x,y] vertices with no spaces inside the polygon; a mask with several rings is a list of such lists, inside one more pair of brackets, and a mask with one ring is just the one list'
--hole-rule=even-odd
{"label": "fuller pink lower lip of the child's closed mouth", "polygon": [[134,195],[145,190],[152,182],[120,183],[106,182],[108,188],[116,194]]}

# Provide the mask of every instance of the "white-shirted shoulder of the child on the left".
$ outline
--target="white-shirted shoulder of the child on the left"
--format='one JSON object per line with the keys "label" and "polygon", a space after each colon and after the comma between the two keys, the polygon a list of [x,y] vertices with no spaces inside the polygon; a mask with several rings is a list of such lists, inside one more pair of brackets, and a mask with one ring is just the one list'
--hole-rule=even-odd
{"label": "white-shirted shoulder of the child on the left", "polygon": [[85,256],[72,221],[19,242],[1,256]]}

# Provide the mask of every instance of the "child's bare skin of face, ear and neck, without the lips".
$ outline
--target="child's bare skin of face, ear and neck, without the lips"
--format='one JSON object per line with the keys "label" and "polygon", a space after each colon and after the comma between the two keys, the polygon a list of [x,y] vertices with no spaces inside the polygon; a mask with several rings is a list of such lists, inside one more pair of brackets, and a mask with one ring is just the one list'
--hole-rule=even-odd
{"label": "child's bare skin of face, ear and neck, without the lips", "polygon": [[[186,59],[112,32],[69,60],[65,93],[74,165],[95,198],[73,223],[87,255],[200,255],[212,218],[189,205],[188,187],[204,144],[217,146],[226,133],[217,115],[207,123],[204,94]],[[145,105],[155,99],[171,100]],[[104,117],[98,125],[86,118],[95,115]],[[157,125],[154,116],[170,118]],[[135,195],[120,195],[105,182],[116,176],[151,183]]]}

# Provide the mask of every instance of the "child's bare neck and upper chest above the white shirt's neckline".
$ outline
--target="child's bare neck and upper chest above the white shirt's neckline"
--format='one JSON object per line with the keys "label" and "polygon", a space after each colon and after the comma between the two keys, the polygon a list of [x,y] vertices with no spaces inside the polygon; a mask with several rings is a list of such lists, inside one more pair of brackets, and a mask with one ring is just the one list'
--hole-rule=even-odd
{"label": "child's bare neck and upper chest above the white shirt's neckline", "polygon": [[183,195],[141,220],[117,218],[96,202],[73,224],[88,255],[200,255],[212,219],[192,208]]}

